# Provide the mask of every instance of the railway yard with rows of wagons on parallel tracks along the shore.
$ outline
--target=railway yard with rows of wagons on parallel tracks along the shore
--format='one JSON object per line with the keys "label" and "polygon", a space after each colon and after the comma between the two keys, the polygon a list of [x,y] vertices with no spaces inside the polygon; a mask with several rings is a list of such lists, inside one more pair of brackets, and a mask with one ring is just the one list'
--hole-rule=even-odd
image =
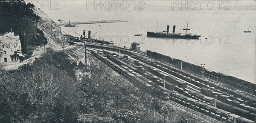
{"label": "railway yard with rows of wagons on parallel tracks along the shore", "polygon": [[163,94],[175,106],[200,113],[216,123],[255,123],[255,84],[150,50],[145,53],[94,43],[77,46],[86,47],[90,55],[148,94]]}

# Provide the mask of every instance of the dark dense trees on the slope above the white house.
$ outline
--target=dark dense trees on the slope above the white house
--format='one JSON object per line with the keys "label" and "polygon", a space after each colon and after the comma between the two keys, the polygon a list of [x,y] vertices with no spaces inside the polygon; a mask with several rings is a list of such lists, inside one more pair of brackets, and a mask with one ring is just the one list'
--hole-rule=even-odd
{"label": "dark dense trees on the slope above the white house", "polygon": [[34,14],[33,8],[33,4],[26,4],[23,0],[0,0],[0,33],[12,29],[19,34],[22,52],[29,57],[35,46],[47,44],[43,31],[36,27],[40,17]]}

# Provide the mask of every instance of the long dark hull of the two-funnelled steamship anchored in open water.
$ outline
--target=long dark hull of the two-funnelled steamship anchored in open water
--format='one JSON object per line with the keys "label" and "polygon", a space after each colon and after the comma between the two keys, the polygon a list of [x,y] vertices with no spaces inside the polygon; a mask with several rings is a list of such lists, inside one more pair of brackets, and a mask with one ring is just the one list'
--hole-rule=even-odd
{"label": "long dark hull of the two-funnelled steamship anchored in open water", "polygon": [[159,37],[159,38],[182,38],[182,39],[199,39],[201,35],[180,35],[180,34],[166,34],[161,32],[147,32],[147,37]]}

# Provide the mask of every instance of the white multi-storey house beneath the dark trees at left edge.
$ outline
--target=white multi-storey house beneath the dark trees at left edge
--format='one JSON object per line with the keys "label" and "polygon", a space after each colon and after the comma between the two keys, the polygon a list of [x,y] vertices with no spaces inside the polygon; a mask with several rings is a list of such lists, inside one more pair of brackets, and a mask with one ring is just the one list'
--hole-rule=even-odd
{"label": "white multi-storey house beneath the dark trees at left edge", "polygon": [[0,63],[18,62],[18,57],[22,55],[20,37],[12,31],[0,34],[0,49],[3,52]]}

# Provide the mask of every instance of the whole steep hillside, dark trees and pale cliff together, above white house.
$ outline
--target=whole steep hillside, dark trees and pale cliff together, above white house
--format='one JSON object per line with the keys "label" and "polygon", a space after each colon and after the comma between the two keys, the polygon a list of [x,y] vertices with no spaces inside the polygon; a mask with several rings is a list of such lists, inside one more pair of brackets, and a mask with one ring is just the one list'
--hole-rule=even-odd
{"label": "whole steep hillside, dark trees and pale cliff together, above white house", "polygon": [[0,0],[0,34],[20,35],[22,53],[26,58],[66,47],[60,27],[47,14],[24,0]]}

